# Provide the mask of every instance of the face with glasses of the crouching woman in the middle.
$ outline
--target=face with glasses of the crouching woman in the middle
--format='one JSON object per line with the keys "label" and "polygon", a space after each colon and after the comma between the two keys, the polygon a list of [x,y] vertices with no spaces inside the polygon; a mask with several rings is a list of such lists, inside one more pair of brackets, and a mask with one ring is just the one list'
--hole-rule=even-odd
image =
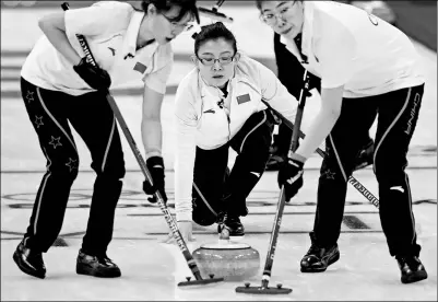
{"label": "face with glasses of the crouching woman in the middle", "polygon": [[193,58],[202,79],[212,86],[224,88],[234,77],[234,68],[239,55],[233,43],[224,38],[203,42]]}

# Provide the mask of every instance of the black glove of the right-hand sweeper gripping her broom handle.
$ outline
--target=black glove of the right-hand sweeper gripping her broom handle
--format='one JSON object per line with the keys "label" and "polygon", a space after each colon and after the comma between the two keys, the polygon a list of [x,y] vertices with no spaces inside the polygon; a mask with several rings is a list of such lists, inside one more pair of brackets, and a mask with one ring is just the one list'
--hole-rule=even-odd
{"label": "black glove of the right-hand sweeper gripping her broom handle", "polygon": [[292,158],[285,158],[280,167],[277,182],[281,188],[284,185],[286,201],[288,202],[303,187],[303,166],[304,161],[299,155],[292,154]]}

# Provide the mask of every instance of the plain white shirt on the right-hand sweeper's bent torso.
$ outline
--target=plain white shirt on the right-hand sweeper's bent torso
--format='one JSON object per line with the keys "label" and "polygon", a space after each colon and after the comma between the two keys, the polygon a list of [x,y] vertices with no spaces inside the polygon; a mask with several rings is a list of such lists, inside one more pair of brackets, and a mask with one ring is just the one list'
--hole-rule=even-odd
{"label": "plain white shirt on the right-hand sweeper's bent torso", "polygon": [[[354,5],[304,1],[303,67],[321,86],[344,85],[344,97],[366,97],[425,82],[419,55],[400,30]],[[281,42],[303,60],[295,42]]]}

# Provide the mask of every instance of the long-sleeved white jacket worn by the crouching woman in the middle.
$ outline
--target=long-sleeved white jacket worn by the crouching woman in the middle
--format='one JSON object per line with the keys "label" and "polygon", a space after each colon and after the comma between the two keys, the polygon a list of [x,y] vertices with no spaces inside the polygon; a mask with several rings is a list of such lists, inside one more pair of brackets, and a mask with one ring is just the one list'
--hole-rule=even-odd
{"label": "long-sleeved white jacket worn by the crouching woman in the middle", "polygon": [[262,100],[292,123],[298,102],[275,74],[260,62],[241,55],[234,78],[228,81],[225,107],[220,89],[209,86],[198,69],[187,74],[175,98],[177,132],[175,159],[175,204],[177,221],[191,220],[191,193],[196,147],[216,149],[227,143],[254,113],[267,109]]}

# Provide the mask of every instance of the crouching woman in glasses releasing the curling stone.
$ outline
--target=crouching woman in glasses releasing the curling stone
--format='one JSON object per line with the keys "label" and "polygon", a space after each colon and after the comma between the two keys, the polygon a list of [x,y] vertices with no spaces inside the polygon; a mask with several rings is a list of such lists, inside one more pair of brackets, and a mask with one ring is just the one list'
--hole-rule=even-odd
{"label": "crouching woman in glasses releasing the curling stone", "polygon": [[[194,43],[196,68],[176,94],[175,202],[178,226],[191,240],[192,221],[218,223],[230,237],[245,234],[239,217],[270,156],[274,117],[269,103],[294,121],[297,102],[275,74],[237,51],[222,23],[206,25]],[[237,158],[227,169],[228,150]]]}

